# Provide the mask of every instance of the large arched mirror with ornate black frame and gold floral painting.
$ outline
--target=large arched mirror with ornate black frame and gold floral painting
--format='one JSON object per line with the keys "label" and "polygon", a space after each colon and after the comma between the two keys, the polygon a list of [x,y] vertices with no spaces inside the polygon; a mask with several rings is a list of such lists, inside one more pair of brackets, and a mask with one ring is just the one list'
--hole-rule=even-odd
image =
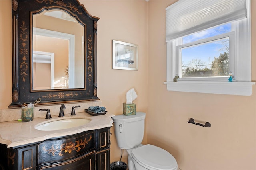
{"label": "large arched mirror with ornate black frame and gold floral painting", "polygon": [[98,17],[78,0],[12,0],[12,103],[99,100]]}

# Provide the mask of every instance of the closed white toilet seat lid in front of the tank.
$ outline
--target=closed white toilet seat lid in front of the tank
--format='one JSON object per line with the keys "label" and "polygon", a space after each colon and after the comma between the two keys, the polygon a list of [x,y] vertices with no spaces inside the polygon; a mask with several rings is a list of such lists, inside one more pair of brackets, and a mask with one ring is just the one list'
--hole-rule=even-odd
{"label": "closed white toilet seat lid in front of the tank", "polygon": [[132,150],[132,157],[141,166],[154,170],[176,170],[175,158],[166,150],[154,145],[143,145]]}

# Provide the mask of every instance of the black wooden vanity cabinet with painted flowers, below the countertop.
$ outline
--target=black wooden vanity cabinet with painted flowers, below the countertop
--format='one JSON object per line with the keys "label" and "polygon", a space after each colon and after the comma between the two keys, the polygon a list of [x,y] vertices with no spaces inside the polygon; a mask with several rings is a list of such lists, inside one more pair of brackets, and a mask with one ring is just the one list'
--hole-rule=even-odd
{"label": "black wooden vanity cabinet with painted flowers, below the countertop", "polygon": [[108,170],[110,127],[0,148],[1,164],[8,170]]}

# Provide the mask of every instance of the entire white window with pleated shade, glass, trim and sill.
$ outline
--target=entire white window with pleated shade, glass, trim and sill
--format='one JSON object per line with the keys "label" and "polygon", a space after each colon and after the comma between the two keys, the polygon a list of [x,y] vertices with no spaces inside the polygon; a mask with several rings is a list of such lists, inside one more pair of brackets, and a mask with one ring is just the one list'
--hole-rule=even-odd
{"label": "entire white window with pleated shade, glass, trim and sill", "polygon": [[251,95],[250,29],[250,0],[180,0],[167,7],[167,89]]}

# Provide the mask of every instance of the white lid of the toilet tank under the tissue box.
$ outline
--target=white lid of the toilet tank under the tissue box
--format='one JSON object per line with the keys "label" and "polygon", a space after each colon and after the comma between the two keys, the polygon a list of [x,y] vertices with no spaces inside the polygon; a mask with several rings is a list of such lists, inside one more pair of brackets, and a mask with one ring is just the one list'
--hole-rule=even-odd
{"label": "white lid of the toilet tank under the tissue box", "polygon": [[136,112],[136,115],[116,115],[112,117],[114,123],[126,123],[126,122],[133,122],[145,119],[146,113],[143,112]]}

